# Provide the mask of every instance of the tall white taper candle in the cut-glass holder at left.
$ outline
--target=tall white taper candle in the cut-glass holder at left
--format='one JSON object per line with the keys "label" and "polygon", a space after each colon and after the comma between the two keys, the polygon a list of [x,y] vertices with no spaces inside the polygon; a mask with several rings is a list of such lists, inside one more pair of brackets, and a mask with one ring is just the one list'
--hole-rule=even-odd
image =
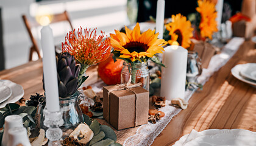
{"label": "tall white taper candle in the cut-glass holder at left", "polygon": [[48,111],[60,111],[59,89],[52,29],[43,26],[41,29],[41,46],[43,49],[43,77]]}

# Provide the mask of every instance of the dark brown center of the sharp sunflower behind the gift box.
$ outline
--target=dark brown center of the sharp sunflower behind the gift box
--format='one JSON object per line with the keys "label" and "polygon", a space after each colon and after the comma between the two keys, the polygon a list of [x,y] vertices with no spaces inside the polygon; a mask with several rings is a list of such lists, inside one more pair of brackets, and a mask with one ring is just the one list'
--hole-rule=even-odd
{"label": "dark brown center of the sharp sunflower behind the gift box", "polygon": [[127,43],[126,45],[124,45],[124,48],[129,50],[130,53],[132,53],[133,51],[137,53],[146,52],[149,49],[146,44],[138,43],[137,41],[131,41],[130,43]]}

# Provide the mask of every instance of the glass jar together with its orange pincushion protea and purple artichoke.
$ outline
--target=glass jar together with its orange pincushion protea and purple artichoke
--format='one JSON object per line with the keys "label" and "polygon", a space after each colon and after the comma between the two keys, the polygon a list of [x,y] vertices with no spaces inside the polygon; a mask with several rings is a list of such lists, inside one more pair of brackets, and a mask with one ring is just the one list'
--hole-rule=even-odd
{"label": "glass jar together with its orange pincushion protea and purple artichoke", "polygon": [[104,61],[111,51],[110,39],[102,41],[104,32],[97,37],[96,29],[82,29],[80,27],[67,33],[65,43],[62,43],[62,53],[56,57],[59,83],[60,108],[63,111],[64,124],[60,127],[62,137],[67,137],[84,122],[79,103],[82,94],[78,88],[87,80],[85,72],[88,67]]}

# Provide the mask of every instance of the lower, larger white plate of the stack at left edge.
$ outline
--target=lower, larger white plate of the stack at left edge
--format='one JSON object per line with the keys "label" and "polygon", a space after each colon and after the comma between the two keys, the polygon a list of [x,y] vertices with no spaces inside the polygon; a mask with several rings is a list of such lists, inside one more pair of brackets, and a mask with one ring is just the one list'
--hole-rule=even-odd
{"label": "lower, larger white plate of the stack at left edge", "polygon": [[3,82],[5,86],[9,86],[9,88],[12,90],[12,96],[10,96],[7,100],[0,103],[0,108],[4,108],[4,106],[7,103],[15,103],[18,100],[21,99],[21,97],[24,96],[24,90],[21,85],[18,85],[16,83],[13,83],[10,80],[0,80],[0,82]]}

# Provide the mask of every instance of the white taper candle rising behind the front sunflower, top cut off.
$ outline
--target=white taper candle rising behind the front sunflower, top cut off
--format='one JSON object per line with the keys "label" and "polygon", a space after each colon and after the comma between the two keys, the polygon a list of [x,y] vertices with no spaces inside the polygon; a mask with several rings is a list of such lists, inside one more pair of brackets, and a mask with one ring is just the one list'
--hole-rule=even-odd
{"label": "white taper candle rising behind the front sunflower, top cut off", "polygon": [[159,32],[158,38],[163,38],[163,24],[165,19],[165,0],[157,1],[157,18],[155,23],[155,33]]}

